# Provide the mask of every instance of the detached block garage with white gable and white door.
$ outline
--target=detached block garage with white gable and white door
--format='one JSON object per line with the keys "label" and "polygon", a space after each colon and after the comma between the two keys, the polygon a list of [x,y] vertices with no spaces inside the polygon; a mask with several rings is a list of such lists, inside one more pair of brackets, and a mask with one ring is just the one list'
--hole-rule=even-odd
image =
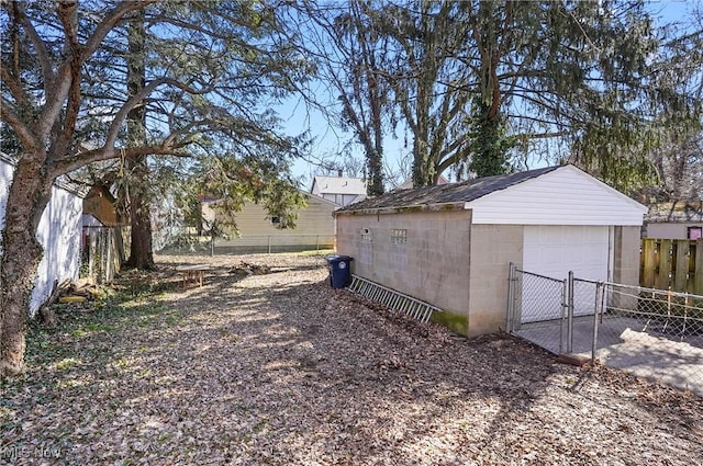
{"label": "detached block garage with white gable and white door", "polygon": [[[477,336],[505,329],[509,264],[637,284],[647,208],[573,166],[400,191],[336,212],[353,273]],[[528,309],[525,309],[528,312]]]}

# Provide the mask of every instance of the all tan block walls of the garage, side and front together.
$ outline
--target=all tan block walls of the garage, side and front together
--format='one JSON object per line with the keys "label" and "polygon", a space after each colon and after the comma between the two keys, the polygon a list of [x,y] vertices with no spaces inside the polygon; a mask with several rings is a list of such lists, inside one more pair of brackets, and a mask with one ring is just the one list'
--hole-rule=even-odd
{"label": "all tan block walls of the garage, side and front together", "polygon": [[[406,230],[406,245],[392,242],[393,229]],[[524,230],[471,225],[470,211],[339,215],[337,250],[355,258],[354,273],[466,317],[473,337],[506,328],[509,266],[522,266]],[[614,236],[613,280],[636,285],[639,227]]]}

